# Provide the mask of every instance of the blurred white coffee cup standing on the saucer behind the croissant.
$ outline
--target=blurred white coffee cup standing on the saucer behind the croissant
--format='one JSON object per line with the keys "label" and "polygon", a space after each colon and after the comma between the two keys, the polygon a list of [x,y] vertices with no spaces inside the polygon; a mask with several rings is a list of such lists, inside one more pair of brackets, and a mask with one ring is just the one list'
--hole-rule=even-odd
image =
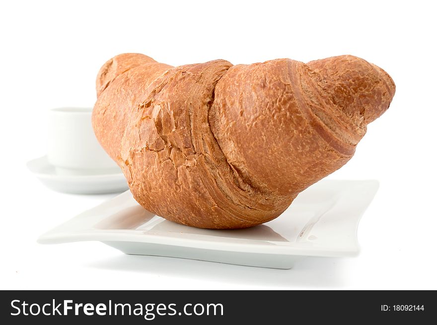
{"label": "blurred white coffee cup standing on the saucer behind the croissant", "polygon": [[98,143],[90,107],[49,111],[48,162],[64,174],[105,174],[120,170]]}

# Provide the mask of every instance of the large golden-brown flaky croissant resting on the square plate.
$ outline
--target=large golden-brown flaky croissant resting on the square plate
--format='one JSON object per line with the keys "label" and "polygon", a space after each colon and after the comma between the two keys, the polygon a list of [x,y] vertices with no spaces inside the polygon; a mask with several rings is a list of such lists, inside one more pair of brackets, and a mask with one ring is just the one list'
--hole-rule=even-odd
{"label": "large golden-brown flaky croissant resting on the square plate", "polygon": [[350,55],[174,68],[121,54],[96,90],[96,137],[135,199],[180,224],[231,229],[278,217],[348,162],[395,84]]}

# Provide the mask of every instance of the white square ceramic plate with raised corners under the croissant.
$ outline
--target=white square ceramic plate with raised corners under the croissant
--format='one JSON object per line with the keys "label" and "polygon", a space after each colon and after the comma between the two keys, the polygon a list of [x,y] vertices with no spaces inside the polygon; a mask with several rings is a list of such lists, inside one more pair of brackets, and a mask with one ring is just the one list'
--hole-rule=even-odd
{"label": "white square ceramic plate with raised corners under the croissant", "polygon": [[357,228],[376,180],[321,180],[277,219],[239,230],[198,229],[158,217],[126,191],[42,235],[41,244],[100,241],[127,254],[291,268],[303,256],[359,252]]}

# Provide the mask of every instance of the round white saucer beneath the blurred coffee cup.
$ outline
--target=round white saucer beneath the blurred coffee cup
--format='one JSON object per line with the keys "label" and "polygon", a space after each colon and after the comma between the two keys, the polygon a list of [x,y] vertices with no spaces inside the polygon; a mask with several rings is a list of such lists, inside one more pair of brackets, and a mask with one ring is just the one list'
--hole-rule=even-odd
{"label": "round white saucer beneath the blurred coffee cup", "polygon": [[69,175],[59,172],[47,161],[47,156],[27,163],[29,170],[47,187],[72,194],[106,194],[123,192],[128,189],[121,170],[102,174]]}

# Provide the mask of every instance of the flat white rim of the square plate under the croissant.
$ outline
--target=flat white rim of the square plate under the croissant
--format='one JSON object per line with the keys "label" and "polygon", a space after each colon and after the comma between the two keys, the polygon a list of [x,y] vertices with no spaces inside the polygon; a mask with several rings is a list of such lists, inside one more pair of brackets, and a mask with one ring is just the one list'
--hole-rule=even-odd
{"label": "flat white rim of the square plate under the croissant", "polygon": [[[66,223],[52,229],[51,231],[43,234],[39,237],[38,242],[41,244],[60,244],[60,243],[69,243],[69,242],[80,242],[80,241],[100,241],[100,242],[135,242],[135,243],[145,243],[145,244],[160,244],[160,245],[169,245],[169,246],[182,246],[187,248],[196,248],[196,249],[212,249],[212,250],[223,250],[223,251],[234,251],[234,252],[245,252],[245,253],[257,253],[257,254],[281,254],[281,255],[299,255],[299,256],[323,256],[323,257],[342,257],[342,256],[356,256],[359,253],[360,246],[358,243],[358,226],[361,220],[362,215],[368,204],[371,202],[371,199],[376,193],[378,188],[378,181],[376,180],[362,180],[362,181],[343,181],[343,180],[322,180],[321,183],[327,182],[343,182],[349,183],[350,188],[347,188],[343,193],[342,205],[334,206],[331,210],[328,211],[329,215],[335,215],[338,213],[337,209],[344,209],[345,204],[348,202],[354,202],[354,200],[349,200],[348,197],[353,197],[356,194],[354,188],[367,188],[368,190],[373,191],[371,197],[367,198],[368,202],[364,202],[364,208],[354,216],[351,216],[349,219],[348,229],[351,232],[351,236],[354,236],[355,244],[349,245],[344,249],[340,249],[336,247],[332,249],[332,247],[318,247],[317,245],[312,245],[308,247],[300,247],[293,245],[281,245],[278,242],[275,244],[253,244],[253,243],[239,243],[235,244],[235,241],[231,241],[229,243],[225,241],[217,241],[212,240],[211,238],[208,241],[192,239],[192,238],[182,238],[172,237],[172,236],[163,236],[161,234],[157,234],[153,230],[93,230],[91,229],[91,224],[95,224],[97,220],[92,219],[87,216],[87,214],[92,215],[93,209],[97,209],[105,205],[104,202],[90,210],[87,210],[73,219],[67,221]],[[319,182],[320,183],[320,182]],[[314,185],[313,185],[314,186]],[[111,199],[123,201],[127,196],[131,196],[129,190],[114,197]],[[329,215],[325,217],[329,218]],[[78,218],[88,218],[86,223],[83,223],[81,230],[72,231],[69,228],[69,223],[72,221],[77,221]],[[279,217],[281,218],[281,216]],[[102,218],[103,219],[103,218]],[[202,236],[202,235],[198,235]],[[222,239],[222,238],[221,238]]]}

